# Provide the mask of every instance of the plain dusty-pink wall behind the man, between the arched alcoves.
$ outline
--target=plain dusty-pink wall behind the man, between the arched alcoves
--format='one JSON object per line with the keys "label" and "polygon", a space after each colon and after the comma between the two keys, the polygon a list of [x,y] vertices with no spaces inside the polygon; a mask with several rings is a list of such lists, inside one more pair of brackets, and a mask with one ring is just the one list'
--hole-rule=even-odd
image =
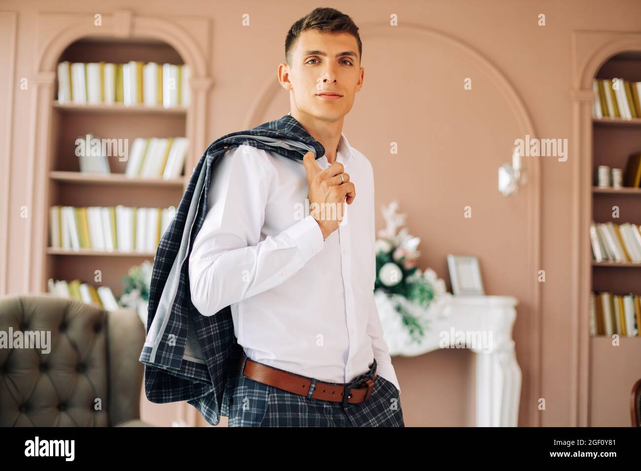
{"label": "plain dusty-pink wall behind the man, between the arched alcoves", "polygon": [[[0,210],[10,223],[8,238],[0,238],[0,256],[6,257],[0,263],[5,270],[0,289],[22,292],[29,277],[27,226],[19,214],[28,186],[21,160],[29,146],[34,97],[19,89],[19,79],[35,80],[38,12],[108,14],[130,8],[136,14],[210,19],[209,31],[195,34],[208,35],[204,53],[213,88],[207,136],[212,141],[289,111],[276,68],[288,28],[316,6],[306,0],[4,1],[4,12],[17,13],[17,29],[15,45],[3,43],[0,54],[3,63],[12,53],[17,60],[10,77],[13,94],[4,84],[0,92],[1,103],[12,104],[8,111],[1,107],[0,117],[0,133],[8,133],[12,143],[9,156],[1,157],[3,170],[10,159],[11,174],[8,190],[0,192],[8,196]],[[638,32],[641,3],[369,0],[329,6],[351,15],[361,28],[365,80],[344,132],[374,166],[377,227],[383,226],[380,206],[397,199],[410,231],[422,240],[420,267],[436,270],[448,288],[446,255],[479,257],[486,293],[520,300],[514,331],[523,372],[519,424],[571,425],[571,161],[524,158],[531,179],[512,197],[499,194],[497,168],[510,161],[513,141],[525,133],[571,138],[572,31]],[[250,26],[241,24],[244,13]],[[399,26],[389,26],[393,13]],[[546,26],[537,25],[539,13],[545,13]],[[472,90],[463,90],[465,78],[472,79]],[[398,154],[390,154],[390,142],[397,142]],[[467,205],[472,219],[463,217]],[[540,211],[540,227],[533,224],[535,211]],[[537,244],[540,266],[535,266]],[[538,285],[540,269],[547,281]],[[394,365],[403,385],[406,425],[474,423],[472,354],[434,352],[394,358]],[[595,397],[608,407],[607,393]],[[545,411],[537,409],[539,398],[545,398]],[[600,410],[595,417],[608,415]],[[610,425],[627,424],[619,418]]]}

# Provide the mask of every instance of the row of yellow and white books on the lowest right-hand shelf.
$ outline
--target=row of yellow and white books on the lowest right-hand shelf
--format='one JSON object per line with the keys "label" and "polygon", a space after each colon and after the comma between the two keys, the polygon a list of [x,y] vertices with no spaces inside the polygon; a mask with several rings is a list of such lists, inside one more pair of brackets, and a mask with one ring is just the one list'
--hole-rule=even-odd
{"label": "row of yellow and white books on the lowest right-hand shelf", "polygon": [[641,303],[634,293],[590,292],[590,336],[638,337]]}

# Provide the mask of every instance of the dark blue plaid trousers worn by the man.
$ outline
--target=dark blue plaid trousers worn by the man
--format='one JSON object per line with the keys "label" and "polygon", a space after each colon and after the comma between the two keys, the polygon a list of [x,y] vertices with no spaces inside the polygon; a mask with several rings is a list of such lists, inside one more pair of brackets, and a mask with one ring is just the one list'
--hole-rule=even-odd
{"label": "dark blue plaid trousers worn by the man", "polygon": [[[376,361],[369,372],[350,383],[372,377]],[[404,427],[399,390],[394,383],[376,376],[369,399],[343,406],[342,402],[322,401],[260,383],[237,374],[229,404],[229,427]]]}

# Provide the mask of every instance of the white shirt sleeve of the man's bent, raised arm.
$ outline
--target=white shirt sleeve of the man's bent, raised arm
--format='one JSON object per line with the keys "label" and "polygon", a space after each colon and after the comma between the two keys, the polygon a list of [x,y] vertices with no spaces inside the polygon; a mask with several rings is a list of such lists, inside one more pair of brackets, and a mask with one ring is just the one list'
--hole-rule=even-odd
{"label": "white shirt sleeve of the man's bent, raised arm", "polygon": [[203,315],[281,285],[324,245],[311,215],[260,240],[274,172],[264,153],[240,145],[212,168],[208,211],[188,267],[192,302]]}

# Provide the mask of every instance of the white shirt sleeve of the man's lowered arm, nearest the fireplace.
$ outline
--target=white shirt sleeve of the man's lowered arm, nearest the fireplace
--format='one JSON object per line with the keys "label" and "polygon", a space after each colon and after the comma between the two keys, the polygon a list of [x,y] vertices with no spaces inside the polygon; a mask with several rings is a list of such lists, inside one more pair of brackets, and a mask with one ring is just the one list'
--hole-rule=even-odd
{"label": "white shirt sleeve of the man's lowered arm, nearest the fireplace", "polygon": [[[374,188],[373,173],[372,173],[372,188]],[[373,190],[372,190],[373,193]],[[367,324],[367,333],[372,339],[372,350],[374,350],[374,358],[376,358],[376,372],[383,376],[388,381],[394,383],[396,389],[401,392],[401,386],[396,377],[394,365],[392,365],[392,358],[389,354],[387,342],[383,338],[383,327],[381,326],[381,319],[378,317],[378,309],[374,301],[374,283],[376,281],[376,220],[374,208],[374,195],[372,194],[372,223],[371,223],[371,254],[372,260],[369,264],[369,272],[367,273],[370,280],[372,291],[368,292],[369,298],[369,321]]]}

